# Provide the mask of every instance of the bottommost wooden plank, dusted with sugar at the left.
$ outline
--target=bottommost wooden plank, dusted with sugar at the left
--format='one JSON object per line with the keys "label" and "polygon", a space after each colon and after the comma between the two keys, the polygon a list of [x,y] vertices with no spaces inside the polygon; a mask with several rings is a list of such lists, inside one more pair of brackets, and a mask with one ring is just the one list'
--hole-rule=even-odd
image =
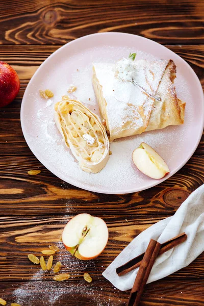
{"label": "bottommost wooden plank, dusted with sugar at the left", "polygon": [[[203,286],[203,279],[173,282],[161,279],[146,286],[140,305],[203,306]],[[0,288],[2,297],[9,303],[18,301],[22,306],[125,306],[129,297],[128,291],[115,289],[106,279],[101,281],[95,277],[93,283],[87,284],[82,276],[60,284],[54,281],[0,282]]]}

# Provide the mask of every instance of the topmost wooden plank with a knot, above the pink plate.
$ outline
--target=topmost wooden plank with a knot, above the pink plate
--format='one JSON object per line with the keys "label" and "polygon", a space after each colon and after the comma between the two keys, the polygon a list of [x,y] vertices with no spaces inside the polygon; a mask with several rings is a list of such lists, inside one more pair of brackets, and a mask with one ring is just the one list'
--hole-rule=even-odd
{"label": "topmost wooden plank with a knot, above the pink plate", "polygon": [[203,43],[203,1],[103,0],[0,3],[1,44],[64,44],[95,32],[128,32],[160,43]]}

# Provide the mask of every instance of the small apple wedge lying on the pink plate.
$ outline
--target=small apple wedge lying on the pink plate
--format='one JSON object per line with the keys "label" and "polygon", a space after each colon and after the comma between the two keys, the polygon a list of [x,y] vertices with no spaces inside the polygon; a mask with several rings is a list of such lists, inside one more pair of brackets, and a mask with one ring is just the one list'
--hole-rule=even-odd
{"label": "small apple wedge lying on the pink plate", "polygon": [[133,151],[133,162],[141,172],[152,179],[162,179],[170,172],[161,156],[145,142]]}

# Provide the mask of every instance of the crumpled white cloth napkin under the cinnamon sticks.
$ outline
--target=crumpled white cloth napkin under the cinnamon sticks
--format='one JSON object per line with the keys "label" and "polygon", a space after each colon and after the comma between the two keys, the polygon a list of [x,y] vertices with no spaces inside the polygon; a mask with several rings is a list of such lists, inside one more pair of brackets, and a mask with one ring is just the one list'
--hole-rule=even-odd
{"label": "crumpled white cloth napkin under the cinnamon sticks", "polygon": [[188,266],[204,251],[204,184],[189,195],[172,217],[150,226],[127,245],[103,276],[122,291],[131,289],[139,268],[123,276],[117,275],[116,268],[145,252],[151,238],[164,243],[183,232],[188,235],[187,240],[157,258],[147,283]]}

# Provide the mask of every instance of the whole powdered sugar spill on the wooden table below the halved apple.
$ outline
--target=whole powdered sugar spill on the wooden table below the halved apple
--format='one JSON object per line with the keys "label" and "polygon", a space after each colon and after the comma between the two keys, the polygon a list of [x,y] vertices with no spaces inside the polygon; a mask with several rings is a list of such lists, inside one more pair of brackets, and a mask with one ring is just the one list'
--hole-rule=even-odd
{"label": "whole powdered sugar spill on the wooden table below the halved apple", "polygon": [[[68,253],[62,242],[58,242],[59,253],[55,254],[54,262],[60,261],[62,269],[60,273],[70,273],[71,277],[68,281],[53,281],[54,274],[52,270],[43,271],[40,266],[36,266],[37,272],[33,275],[29,282],[24,283],[13,291],[13,300],[20,305],[39,306],[39,302],[47,301],[50,306],[58,306],[61,300],[73,299],[79,296],[79,299],[88,300],[90,305],[95,306],[116,306],[116,301],[111,301],[110,296],[101,292],[100,281],[92,275],[93,282],[87,284],[83,279],[83,274],[93,270],[96,260],[81,261],[72,257]],[[46,281],[43,282],[43,280]],[[117,293],[116,293],[117,294]],[[118,299],[117,299],[118,301]],[[122,300],[121,300],[122,302]],[[76,304],[76,303],[73,303]]]}

